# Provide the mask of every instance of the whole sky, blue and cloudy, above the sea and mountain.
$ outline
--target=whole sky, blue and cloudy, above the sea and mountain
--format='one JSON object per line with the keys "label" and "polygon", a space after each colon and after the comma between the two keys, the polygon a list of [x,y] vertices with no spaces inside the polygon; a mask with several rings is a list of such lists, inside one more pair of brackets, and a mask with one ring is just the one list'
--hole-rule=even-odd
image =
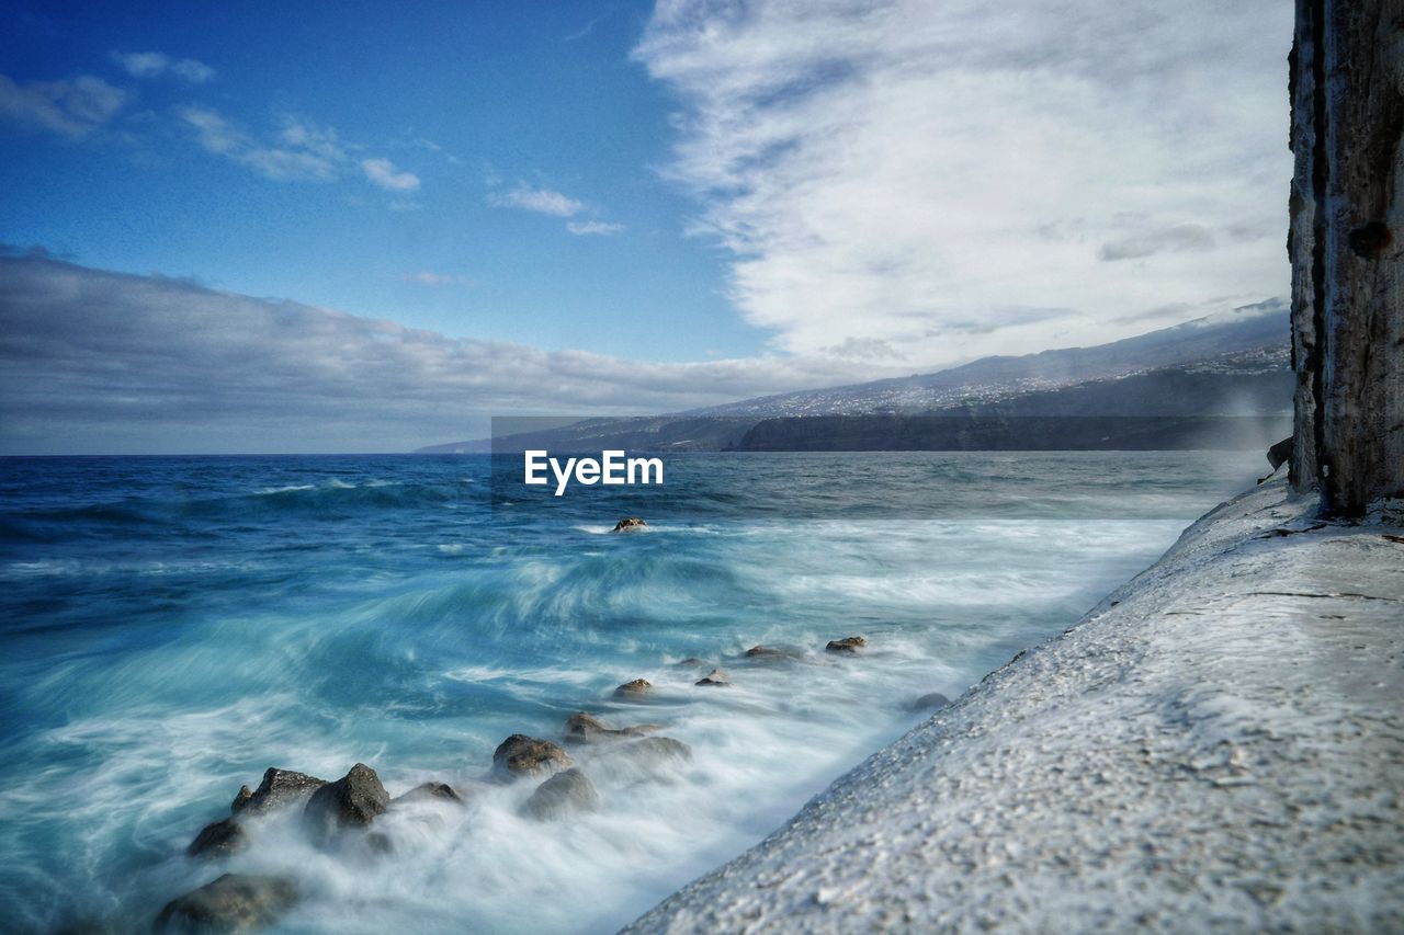
{"label": "whole sky, blue and cloudy, above the sea and mountain", "polygon": [[403,451],[1283,296],[1279,0],[0,3],[0,453]]}

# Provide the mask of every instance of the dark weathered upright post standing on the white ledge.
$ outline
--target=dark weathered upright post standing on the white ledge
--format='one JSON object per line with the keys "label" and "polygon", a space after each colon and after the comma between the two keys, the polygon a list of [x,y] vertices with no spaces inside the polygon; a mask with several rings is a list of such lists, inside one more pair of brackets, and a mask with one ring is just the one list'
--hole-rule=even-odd
{"label": "dark weathered upright post standing on the white ledge", "polygon": [[1360,515],[1404,496],[1404,0],[1297,0],[1292,482]]}

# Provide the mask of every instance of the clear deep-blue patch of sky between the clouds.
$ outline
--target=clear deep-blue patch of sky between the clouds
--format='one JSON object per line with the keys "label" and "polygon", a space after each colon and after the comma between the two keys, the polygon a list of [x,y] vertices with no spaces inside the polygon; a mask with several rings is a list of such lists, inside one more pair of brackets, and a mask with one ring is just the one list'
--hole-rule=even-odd
{"label": "clear deep-blue patch of sky between the clouds", "polygon": [[[667,93],[629,59],[647,4],[131,6],[7,6],[6,74],[128,97],[80,139],[4,128],[8,243],[455,337],[665,361],[758,350],[719,250],[682,236],[685,195],[656,171]],[[211,73],[124,65],[153,52]],[[278,177],[208,152],[191,111],[251,146],[334,133],[344,164]],[[378,187],[369,159],[418,184]],[[583,206],[494,204],[528,188]],[[670,326],[640,327],[660,307]]]}

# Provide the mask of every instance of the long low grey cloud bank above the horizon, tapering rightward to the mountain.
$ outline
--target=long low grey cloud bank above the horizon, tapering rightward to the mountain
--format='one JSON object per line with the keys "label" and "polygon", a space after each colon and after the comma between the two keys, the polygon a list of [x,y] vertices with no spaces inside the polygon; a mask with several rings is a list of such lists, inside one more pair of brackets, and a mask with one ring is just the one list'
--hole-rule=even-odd
{"label": "long low grey cloud bank above the horizon, tapering rightward to the mountain", "polygon": [[827,358],[650,364],[458,340],[0,257],[0,453],[407,451],[484,437],[491,416],[674,411],[869,375]]}

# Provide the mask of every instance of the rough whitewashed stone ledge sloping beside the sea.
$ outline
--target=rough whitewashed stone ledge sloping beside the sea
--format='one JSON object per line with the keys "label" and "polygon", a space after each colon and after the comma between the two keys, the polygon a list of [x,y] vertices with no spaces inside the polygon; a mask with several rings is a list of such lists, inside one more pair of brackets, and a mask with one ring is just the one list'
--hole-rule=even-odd
{"label": "rough whitewashed stone ledge sloping beside the sea", "polygon": [[1271,482],[629,929],[1404,928],[1404,525]]}

